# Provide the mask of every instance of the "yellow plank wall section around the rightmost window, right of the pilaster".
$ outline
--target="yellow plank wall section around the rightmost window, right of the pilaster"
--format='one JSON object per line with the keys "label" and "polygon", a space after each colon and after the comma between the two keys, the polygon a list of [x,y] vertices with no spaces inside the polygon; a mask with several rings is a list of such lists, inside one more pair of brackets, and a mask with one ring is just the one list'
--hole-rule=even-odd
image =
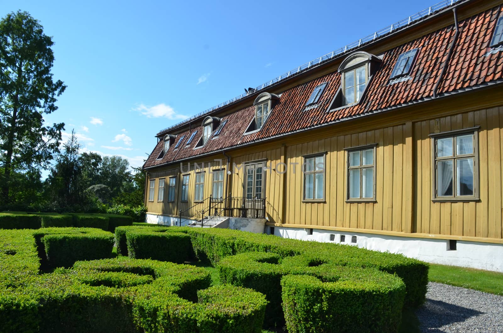
{"label": "yellow plank wall section around the rightmost window, right of the pilaster", "polygon": [[[413,230],[441,235],[502,238],[503,145],[501,107],[416,122],[414,128]],[[438,124],[438,126],[437,126]],[[431,133],[480,126],[478,135],[479,200],[433,202]],[[477,180],[476,180],[477,181]],[[431,213],[430,213],[431,212]],[[430,221],[428,221],[430,220]]]}

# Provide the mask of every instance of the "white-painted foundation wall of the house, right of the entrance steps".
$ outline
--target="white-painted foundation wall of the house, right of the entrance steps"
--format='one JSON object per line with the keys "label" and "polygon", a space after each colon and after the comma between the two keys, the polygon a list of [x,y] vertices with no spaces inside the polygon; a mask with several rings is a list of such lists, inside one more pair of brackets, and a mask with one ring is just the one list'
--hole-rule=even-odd
{"label": "white-painted foundation wall of the house, right of the entrance steps", "polygon": [[[270,227],[266,228],[270,233]],[[274,227],[274,234],[284,238],[316,240],[355,245],[375,251],[400,253],[429,263],[503,272],[503,244],[457,240],[449,249],[449,240],[388,236],[371,233],[347,233],[322,229]],[[333,235],[333,240],[330,236]],[[341,236],[344,235],[344,242]],[[352,242],[356,236],[356,243]]]}

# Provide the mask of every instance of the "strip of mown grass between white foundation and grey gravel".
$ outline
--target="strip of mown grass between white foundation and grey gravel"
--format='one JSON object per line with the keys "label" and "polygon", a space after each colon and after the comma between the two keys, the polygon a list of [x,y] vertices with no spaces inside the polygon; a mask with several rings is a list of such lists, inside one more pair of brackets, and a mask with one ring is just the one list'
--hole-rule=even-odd
{"label": "strip of mown grass between white foundation and grey gravel", "polygon": [[503,295],[503,273],[430,264],[428,280]]}

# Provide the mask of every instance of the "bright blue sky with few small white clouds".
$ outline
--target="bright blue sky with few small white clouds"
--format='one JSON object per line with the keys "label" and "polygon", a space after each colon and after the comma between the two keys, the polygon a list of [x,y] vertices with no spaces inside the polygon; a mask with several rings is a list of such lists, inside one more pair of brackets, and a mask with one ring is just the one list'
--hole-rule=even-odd
{"label": "bright blue sky with few small white clouds", "polygon": [[53,36],[68,88],[45,120],[140,166],[159,130],[436,2],[2,0],[0,15]]}

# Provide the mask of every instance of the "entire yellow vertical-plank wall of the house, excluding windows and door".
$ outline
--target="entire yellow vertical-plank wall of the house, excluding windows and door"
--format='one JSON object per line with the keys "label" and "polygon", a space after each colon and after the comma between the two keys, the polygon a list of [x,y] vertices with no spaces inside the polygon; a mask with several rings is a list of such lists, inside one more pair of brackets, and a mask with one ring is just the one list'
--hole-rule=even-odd
{"label": "entire yellow vertical-plank wall of the house, excluding windows and door", "polygon": [[[432,133],[479,127],[479,200],[434,202],[434,152]],[[502,238],[503,233],[503,107],[420,120],[367,130],[333,135],[323,139],[284,141],[264,151],[247,153],[236,149],[231,157],[228,191],[245,196],[244,165],[254,160],[267,161],[264,178],[266,216],[269,222],[302,226],[347,227],[364,230],[420,232],[440,235]],[[290,142],[290,143],[286,143]],[[375,201],[347,202],[348,153],[346,148],[376,144]],[[326,153],[324,200],[308,202],[304,196],[304,156]],[[201,166],[203,160],[199,160]],[[222,161],[225,168],[226,160]],[[284,165],[286,164],[286,166]],[[204,198],[212,191],[213,159],[204,163]],[[145,187],[148,212],[177,216],[179,210],[194,205],[196,165],[185,163],[171,169],[149,172]],[[227,172],[227,170],[225,171]],[[182,175],[189,175],[189,197],[181,202]],[[176,200],[168,202],[169,178],[177,177]],[[164,200],[157,202],[159,179],[165,179]],[[148,201],[148,180],[155,180],[154,201]],[[227,181],[226,181],[227,182]],[[224,189],[227,184],[224,183]],[[226,193],[227,194],[227,193]],[[197,208],[189,210],[191,217]]]}

